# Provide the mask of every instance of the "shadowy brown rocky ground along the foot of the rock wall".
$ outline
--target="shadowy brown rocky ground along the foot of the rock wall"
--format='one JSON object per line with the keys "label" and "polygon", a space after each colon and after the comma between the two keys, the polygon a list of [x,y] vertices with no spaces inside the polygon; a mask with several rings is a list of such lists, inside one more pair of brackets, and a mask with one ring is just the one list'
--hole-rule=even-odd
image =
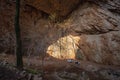
{"label": "shadowy brown rocky ground along the foot of the rock wall", "polygon": [[100,65],[86,61],[46,59],[44,76],[41,60],[24,58],[25,67],[17,70],[11,64],[11,57],[0,61],[0,80],[120,80],[120,67]]}

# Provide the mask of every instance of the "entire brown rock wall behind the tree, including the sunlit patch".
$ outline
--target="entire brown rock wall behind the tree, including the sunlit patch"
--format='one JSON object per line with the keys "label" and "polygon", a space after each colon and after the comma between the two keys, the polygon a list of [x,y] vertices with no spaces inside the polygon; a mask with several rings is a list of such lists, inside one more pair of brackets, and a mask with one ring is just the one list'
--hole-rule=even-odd
{"label": "entire brown rock wall behind the tree, including the sunlit patch", "polygon": [[[48,53],[59,59],[119,65],[120,1],[80,2],[60,0],[59,4],[56,0],[23,1],[20,26],[24,53]],[[61,23],[53,23],[48,14],[54,12],[60,17],[69,14],[69,18]],[[0,0],[0,52],[14,51],[14,13],[15,2]]]}

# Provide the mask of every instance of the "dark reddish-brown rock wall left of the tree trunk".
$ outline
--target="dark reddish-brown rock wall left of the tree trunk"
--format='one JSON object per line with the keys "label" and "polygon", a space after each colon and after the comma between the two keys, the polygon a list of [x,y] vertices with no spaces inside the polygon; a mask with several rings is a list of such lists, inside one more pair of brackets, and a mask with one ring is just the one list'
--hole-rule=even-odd
{"label": "dark reddish-brown rock wall left of the tree trunk", "polygon": [[11,51],[14,41],[15,3],[0,0],[0,52]]}

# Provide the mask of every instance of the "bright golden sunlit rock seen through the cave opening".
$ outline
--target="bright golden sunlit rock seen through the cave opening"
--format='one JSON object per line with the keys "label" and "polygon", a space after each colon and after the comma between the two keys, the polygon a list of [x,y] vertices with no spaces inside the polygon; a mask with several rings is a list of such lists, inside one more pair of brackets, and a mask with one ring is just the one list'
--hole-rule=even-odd
{"label": "bright golden sunlit rock seen through the cave opening", "polygon": [[68,35],[48,47],[47,53],[58,59],[75,59],[80,37]]}

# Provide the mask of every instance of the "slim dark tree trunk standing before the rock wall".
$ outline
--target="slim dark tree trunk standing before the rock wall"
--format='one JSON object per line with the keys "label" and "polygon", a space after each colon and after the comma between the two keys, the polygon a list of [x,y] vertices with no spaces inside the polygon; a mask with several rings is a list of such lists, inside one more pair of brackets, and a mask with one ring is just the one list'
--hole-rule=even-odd
{"label": "slim dark tree trunk standing before the rock wall", "polygon": [[23,68],[22,42],[20,34],[19,17],[20,17],[20,0],[16,0],[16,14],[15,14],[16,66],[18,69],[22,69]]}

